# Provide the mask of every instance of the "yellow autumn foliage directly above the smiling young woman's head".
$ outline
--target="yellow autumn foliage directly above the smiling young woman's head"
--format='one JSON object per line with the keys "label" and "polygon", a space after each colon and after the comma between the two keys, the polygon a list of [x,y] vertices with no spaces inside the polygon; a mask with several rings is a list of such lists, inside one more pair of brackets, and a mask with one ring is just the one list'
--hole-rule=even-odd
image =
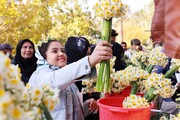
{"label": "yellow autumn foliage directly above the smiling young woman's head", "polygon": [[49,34],[62,42],[70,36],[86,36],[88,39],[95,36],[98,33],[97,26],[93,22],[91,12],[83,8],[82,4],[78,3],[78,0],[59,2],[53,15],[56,26]]}

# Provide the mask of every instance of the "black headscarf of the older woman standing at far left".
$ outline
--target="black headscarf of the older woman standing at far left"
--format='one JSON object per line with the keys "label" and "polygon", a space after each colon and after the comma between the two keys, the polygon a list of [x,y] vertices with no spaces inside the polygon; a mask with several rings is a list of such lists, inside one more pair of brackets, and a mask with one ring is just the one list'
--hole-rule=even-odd
{"label": "black headscarf of the older woman standing at far left", "polygon": [[[24,59],[21,56],[21,48],[25,42],[31,43],[34,49],[33,56],[28,59]],[[29,39],[21,40],[17,45],[16,55],[14,60],[12,61],[12,64],[15,65],[18,64],[19,68],[21,69],[21,74],[22,74],[21,80],[24,82],[24,84],[26,84],[29,81],[30,76],[36,70],[37,67],[36,62],[37,62],[37,58],[35,57],[35,48],[33,42],[30,41]]]}

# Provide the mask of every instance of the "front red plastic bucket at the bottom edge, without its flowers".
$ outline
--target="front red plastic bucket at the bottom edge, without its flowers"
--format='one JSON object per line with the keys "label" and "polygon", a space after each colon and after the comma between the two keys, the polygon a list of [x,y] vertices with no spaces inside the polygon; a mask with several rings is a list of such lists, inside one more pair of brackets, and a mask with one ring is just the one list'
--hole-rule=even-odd
{"label": "front red plastic bucket at the bottom edge, without its flowers", "polygon": [[122,108],[124,97],[101,98],[97,101],[100,120],[150,120],[151,108]]}

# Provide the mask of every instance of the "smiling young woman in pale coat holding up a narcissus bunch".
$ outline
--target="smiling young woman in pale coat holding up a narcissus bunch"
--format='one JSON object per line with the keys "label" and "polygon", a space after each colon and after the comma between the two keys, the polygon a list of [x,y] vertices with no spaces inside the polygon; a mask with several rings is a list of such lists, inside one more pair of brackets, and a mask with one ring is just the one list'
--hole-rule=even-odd
{"label": "smiling young woman in pale coat holding up a narcissus bunch", "polygon": [[40,58],[44,58],[45,65],[41,65],[32,74],[29,84],[38,86],[48,84],[54,89],[59,89],[60,103],[55,106],[52,112],[53,120],[84,120],[91,112],[96,112],[98,106],[96,101],[89,99],[81,102],[78,88],[74,82],[76,78],[87,75],[102,60],[109,60],[112,57],[111,44],[101,41],[97,44],[93,53],[77,62],[66,65],[67,56],[64,47],[57,40],[48,40],[38,47]]}

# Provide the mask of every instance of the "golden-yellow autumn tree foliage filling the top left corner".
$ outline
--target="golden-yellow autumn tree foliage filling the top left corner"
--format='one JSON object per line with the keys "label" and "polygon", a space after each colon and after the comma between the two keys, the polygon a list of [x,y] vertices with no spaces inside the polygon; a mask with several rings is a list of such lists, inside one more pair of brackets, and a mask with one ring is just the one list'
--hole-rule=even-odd
{"label": "golden-yellow autumn tree foliage filling the top left corner", "polygon": [[37,41],[52,28],[49,7],[56,0],[0,1],[0,42],[16,46],[21,39]]}

